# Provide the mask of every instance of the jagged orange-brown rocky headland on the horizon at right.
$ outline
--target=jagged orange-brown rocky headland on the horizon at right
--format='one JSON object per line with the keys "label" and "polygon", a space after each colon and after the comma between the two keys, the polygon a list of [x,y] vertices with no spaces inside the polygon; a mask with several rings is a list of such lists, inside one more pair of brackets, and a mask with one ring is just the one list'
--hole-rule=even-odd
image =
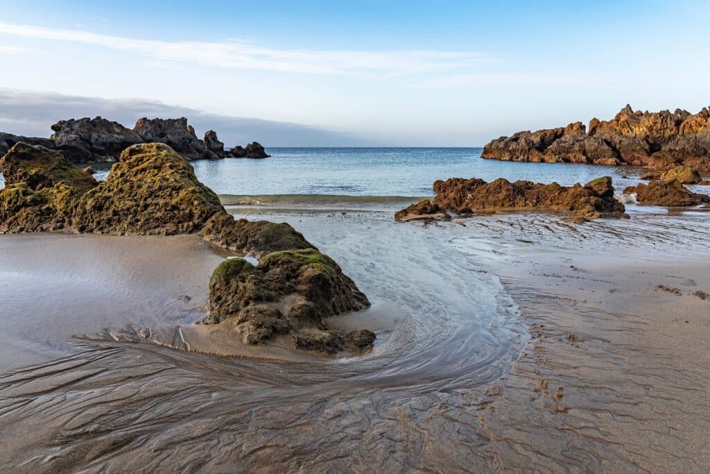
{"label": "jagged orange-brown rocky headland on the horizon at right", "polygon": [[591,119],[556,129],[519,131],[491,141],[482,158],[535,163],[591,163],[667,170],[680,165],[710,172],[710,110],[697,114],[634,112],[627,105],[611,120]]}

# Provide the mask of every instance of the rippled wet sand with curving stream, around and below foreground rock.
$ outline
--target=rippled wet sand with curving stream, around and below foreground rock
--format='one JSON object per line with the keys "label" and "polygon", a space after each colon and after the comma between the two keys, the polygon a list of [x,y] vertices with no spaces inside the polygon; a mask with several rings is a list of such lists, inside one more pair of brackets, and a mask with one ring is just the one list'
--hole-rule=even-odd
{"label": "rippled wet sand with curving stream, around and below foreground rock", "polygon": [[[710,300],[695,295],[710,293],[706,215],[580,227],[545,214],[428,226],[378,212],[247,217],[286,220],[341,264],[374,303],[364,318],[377,323],[376,347],[341,358],[277,347],[260,360],[75,340],[70,355],[0,377],[5,468],[710,465]],[[362,322],[351,316],[340,322]],[[189,319],[164,327],[194,328]]]}

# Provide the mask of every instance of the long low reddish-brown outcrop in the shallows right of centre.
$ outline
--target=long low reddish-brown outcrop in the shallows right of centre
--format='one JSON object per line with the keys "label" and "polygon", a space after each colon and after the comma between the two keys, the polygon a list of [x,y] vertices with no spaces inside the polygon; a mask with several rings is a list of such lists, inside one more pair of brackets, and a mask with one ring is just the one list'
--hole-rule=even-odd
{"label": "long low reddish-brown outcrop in the shallows right of centre", "polygon": [[[510,181],[498,178],[486,183],[482,179],[451,178],[434,183],[437,194],[431,205],[439,211],[470,214],[498,210],[552,210],[571,214],[581,222],[599,217],[628,217],[625,208],[614,198],[611,178],[604,176],[581,186],[561,186],[557,183],[542,184],[530,181]],[[420,203],[423,212],[431,208]],[[411,215],[417,208],[404,211]],[[399,214],[399,213],[398,213]],[[401,215],[400,215],[401,216]]]}

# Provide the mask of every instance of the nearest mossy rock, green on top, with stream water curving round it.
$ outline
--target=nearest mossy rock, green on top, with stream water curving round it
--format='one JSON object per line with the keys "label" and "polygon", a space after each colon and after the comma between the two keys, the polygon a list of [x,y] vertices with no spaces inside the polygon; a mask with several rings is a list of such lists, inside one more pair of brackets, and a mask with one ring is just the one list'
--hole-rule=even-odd
{"label": "nearest mossy rock, green on top, with stream water curving round it", "polygon": [[316,249],[272,252],[258,266],[229,259],[214,270],[204,323],[233,321],[246,343],[292,333],[297,348],[335,353],[365,347],[367,334],[344,337],[327,330],[323,318],[368,306],[367,297],[327,255]]}

